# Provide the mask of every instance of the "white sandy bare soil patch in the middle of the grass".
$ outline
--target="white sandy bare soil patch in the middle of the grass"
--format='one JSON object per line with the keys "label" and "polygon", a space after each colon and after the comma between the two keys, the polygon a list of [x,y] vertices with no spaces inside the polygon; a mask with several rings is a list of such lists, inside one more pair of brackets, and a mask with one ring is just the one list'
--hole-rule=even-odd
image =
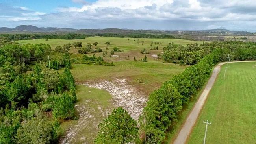
{"label": "white sandy bare soil patch in the middle of the grass", "polygon": [[123,107],[134,119],[138,119],[147,102],[147,95],[133,87],[126,79],[84,83],[88,87],[106,90],[113,96],[115,107]]}

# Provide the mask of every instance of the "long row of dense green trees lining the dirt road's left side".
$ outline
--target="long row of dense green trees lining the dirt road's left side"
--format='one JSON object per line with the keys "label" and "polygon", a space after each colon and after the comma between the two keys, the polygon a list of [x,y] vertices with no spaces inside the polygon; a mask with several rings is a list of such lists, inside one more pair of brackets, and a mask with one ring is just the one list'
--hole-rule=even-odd
{"label": "long row of dense green trees lining the dirt road's left side", "polygon": [[173,76],[160,89],[150,94],[141,117],[141,128],[148,142],[161,143],[164,140],[165,131],[172,122],[177,121],[178,112],[182,109],[182,105],[186,104],[197,89],[202,87],[211,72],[211,68],[219,61],[217,57],[219,54],[219,49],[214,50],[196,65]]}

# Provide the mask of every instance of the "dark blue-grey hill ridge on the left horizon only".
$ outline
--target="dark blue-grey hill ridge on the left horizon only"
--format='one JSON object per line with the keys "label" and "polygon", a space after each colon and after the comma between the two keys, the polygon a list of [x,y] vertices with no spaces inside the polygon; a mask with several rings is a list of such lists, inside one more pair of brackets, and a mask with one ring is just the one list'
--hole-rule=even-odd
{"label": "dark blue-grey hill ridge on the left horizon only", "polygon": [[32,25],[20,25],[15,28],[1,27],[0,32],[75,32],[77,29],[73,28],[38,28]]}

